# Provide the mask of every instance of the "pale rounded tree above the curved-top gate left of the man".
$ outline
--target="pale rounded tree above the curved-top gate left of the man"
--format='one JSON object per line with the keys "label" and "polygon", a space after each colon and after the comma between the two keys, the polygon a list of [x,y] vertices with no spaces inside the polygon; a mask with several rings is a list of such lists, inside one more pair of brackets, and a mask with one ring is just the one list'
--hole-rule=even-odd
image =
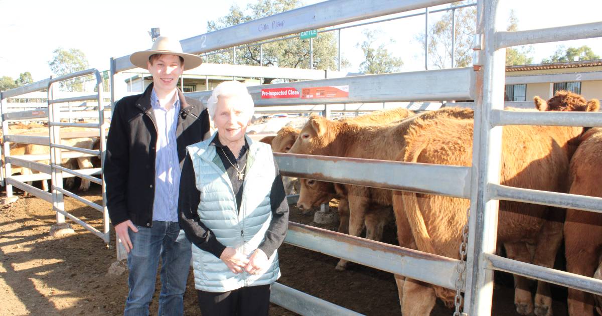
{"label": "pale rounded tree above the curved-top gate left of the man", "polygon": [[[84,52],[79,49],[57,48],[53,54],[54,57],[51,61],[48,61],[48,66],[58,76],[88,69],[88,60],[85,58]],[[84,79],[75,78],[61,82],[60,86],[66,88],[67,91],[84,91],[83,82]]]}

